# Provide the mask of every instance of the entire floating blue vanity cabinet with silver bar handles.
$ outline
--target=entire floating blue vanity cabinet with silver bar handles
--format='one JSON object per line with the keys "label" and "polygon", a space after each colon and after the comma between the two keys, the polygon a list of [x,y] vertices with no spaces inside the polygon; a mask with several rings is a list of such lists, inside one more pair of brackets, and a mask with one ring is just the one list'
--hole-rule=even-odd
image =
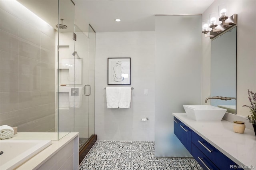
{"label": "entire floating blue vanity cabinet with silver bar handles", "polygon": [[236,163],[174,117],[174,134],[204,170],[234,170]]}

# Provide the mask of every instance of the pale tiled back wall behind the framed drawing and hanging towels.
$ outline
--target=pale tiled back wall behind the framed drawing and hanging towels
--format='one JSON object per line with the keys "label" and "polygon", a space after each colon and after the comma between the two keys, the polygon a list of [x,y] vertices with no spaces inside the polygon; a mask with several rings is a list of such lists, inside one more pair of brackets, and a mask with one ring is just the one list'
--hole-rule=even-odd
{"label": "pale tiled back wall behind the framed drawing and hanging towels", "polygon": [[[96,32],[95,134],[99,140],[154,141],[154,50],[154,32]],[[108,57],[131,57],[134,89],[129,109],[106,107]],[[140,121],[145,117],[149,121]]]}

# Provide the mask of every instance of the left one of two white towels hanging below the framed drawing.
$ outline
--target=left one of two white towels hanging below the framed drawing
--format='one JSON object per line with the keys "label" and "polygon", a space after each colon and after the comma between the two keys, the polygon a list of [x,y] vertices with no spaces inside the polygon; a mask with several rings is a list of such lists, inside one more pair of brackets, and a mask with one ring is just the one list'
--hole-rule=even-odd
{"label": "left one of two white towels hanging below the framed drawing", "polygon": [[118,87],[106,87],[107,108],[118,108]]}

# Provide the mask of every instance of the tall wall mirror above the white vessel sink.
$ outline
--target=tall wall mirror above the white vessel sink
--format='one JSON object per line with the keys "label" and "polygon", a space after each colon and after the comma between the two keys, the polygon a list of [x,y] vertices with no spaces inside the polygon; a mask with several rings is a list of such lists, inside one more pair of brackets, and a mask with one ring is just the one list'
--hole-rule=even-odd
{"label": "tall wall mirror above the white vessel sink", "polygon": [[[212,39],[211,96],[236,97],[236,27]],[[236,114],[234,99],[211,99],[211,105]]]}

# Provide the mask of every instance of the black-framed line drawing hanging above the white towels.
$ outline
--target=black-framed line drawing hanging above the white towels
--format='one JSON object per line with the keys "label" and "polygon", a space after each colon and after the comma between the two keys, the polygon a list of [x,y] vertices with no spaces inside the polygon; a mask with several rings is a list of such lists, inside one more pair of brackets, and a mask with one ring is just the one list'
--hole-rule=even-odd
{"label": "black-framed line drawing hanging above the white towels", "polygon": [[131,85],[131,58],[108,58],[108,85]]}

